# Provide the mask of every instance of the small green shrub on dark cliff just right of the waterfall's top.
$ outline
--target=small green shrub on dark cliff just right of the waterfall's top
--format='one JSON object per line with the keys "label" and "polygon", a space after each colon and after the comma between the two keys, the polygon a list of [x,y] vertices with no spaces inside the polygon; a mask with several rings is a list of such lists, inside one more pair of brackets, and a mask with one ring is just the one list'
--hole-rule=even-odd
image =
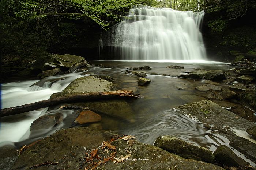
{"label": "small green shrub on dark cliff just right of the waterfall's top", "polygon": [[221,18],[217,20],[211,20],[208,22],[208,27],[210,27],[212,33],[221,33],[227,29],[227,20]]}

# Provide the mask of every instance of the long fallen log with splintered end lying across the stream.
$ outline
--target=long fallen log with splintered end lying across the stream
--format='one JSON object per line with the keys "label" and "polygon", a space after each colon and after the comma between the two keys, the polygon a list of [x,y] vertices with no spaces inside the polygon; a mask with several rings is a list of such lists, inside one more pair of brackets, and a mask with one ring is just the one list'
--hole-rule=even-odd
{"label": "long fallen log with splintered end lying across the stream", "polygon": [[84,94],[62,96],[54,99],[48,99],[48,100],[42,100],[35,103],[24,104],[22,106],[1,109],[0,117],[16,115],[19,113],[37,110],[39,108],[56,106],[61,103],[74,103],[74,102],[81,102],[81,101],[104,100],[104,99],[114,99],[114,98],[139,98],[139,97],[140,95],[135,94],[132,90],[90,92],[90,93],[84,93]]}

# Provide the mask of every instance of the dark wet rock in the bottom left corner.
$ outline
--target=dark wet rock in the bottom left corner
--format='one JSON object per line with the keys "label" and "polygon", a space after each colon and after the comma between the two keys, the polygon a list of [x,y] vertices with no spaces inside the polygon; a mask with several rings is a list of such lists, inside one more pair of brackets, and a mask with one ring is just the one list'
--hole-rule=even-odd
{"label": "dark wet rock in the bottom left corner", "polygon": [[18,159],[19,152],[13,146],[0,148],[0,169],[10,170]]}

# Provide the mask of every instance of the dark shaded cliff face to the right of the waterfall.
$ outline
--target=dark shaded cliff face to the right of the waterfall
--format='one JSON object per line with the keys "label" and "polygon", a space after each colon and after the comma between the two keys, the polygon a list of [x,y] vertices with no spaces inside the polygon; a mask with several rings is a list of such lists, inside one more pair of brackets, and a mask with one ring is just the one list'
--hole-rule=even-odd
{"label": "dark shaded cliff face to the right of the waterfall", "polygon": [[256,52],[256,2],[212,0],[202,27],[208,56],[228,58],[232,53]]}

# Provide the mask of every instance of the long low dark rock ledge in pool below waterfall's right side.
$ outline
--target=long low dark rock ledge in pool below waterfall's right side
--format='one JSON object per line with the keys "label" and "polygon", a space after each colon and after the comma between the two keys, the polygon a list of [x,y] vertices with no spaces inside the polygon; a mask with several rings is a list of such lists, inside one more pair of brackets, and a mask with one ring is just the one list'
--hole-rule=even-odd
{"label": "long low dark rock ledge in pool below waterfall's right side", "polygon": [[190,79],[207,79],[212,81],[222,81],[226,80],[227,74],[222,70],[199,70],[187,72],[188,74],[179,75],[179,78],[190,78]]}

